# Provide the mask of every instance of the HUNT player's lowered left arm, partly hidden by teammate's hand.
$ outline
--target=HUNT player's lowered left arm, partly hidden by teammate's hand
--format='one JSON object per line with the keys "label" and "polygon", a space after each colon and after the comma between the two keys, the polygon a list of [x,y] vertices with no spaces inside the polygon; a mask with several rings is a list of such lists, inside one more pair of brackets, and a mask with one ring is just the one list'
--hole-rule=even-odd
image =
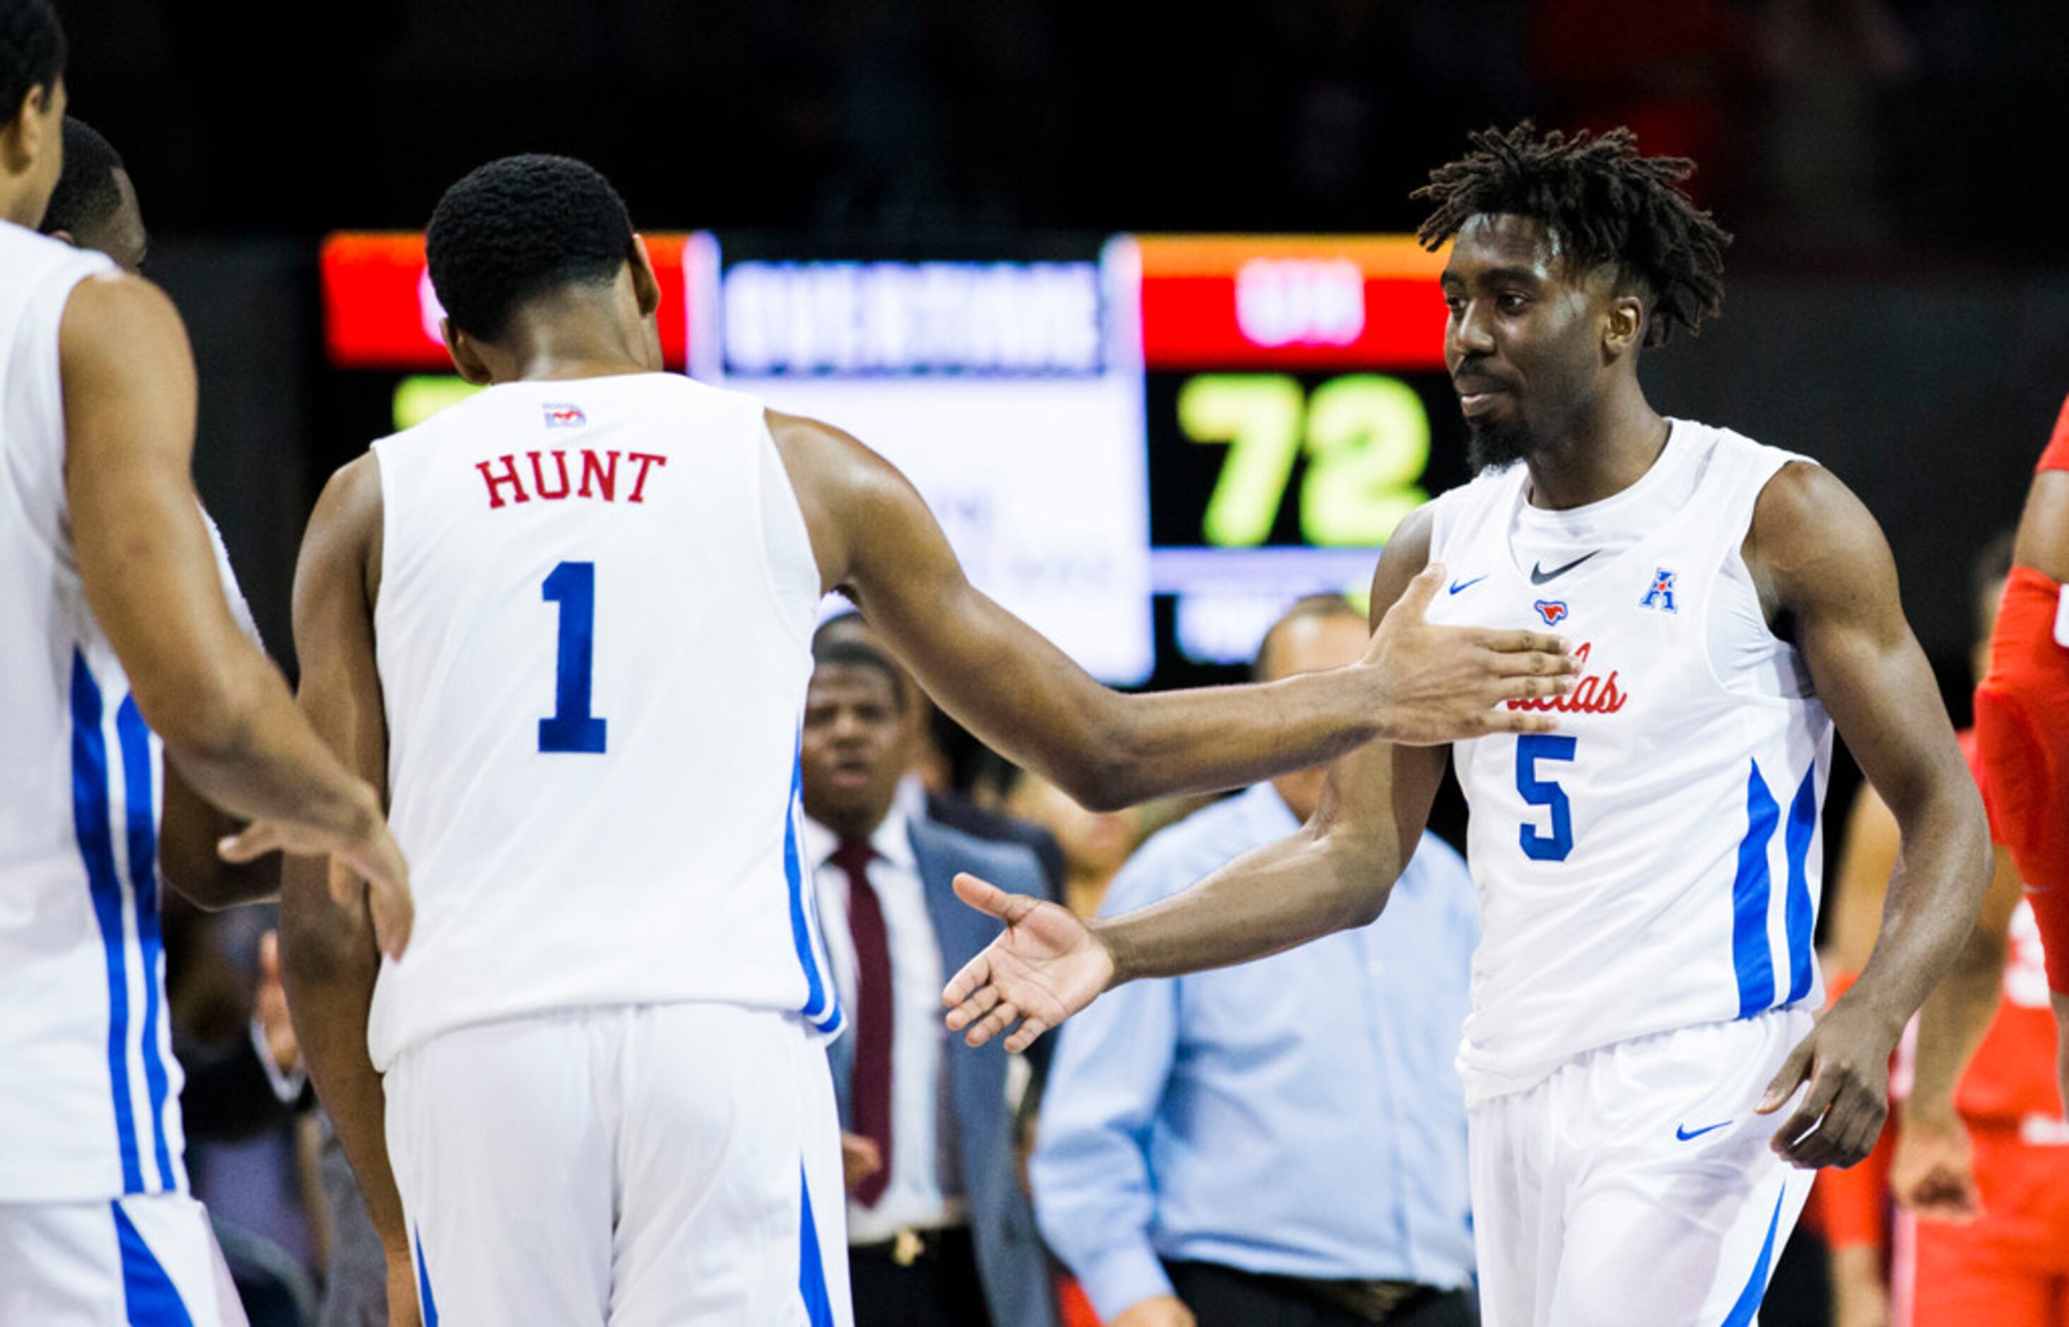
{"label": "HUNT player's lowered left arm, partly hidden by teammate's hand", "polygon": [[[310,726],[372,788],[387,792],[387,719],[374,668],[372,595],[381,577],[381,475],[366,455],[323,490],[294,577],[300,705]],[[387,1158],[387,1095],[366,1054],[366,1011],[381,953],[370,918],[325,887],[321,858],[288,858],[279,955],[294,1033],[331,1114],[366,1213],[389,1259],[408,1261],[401,1197]]]}

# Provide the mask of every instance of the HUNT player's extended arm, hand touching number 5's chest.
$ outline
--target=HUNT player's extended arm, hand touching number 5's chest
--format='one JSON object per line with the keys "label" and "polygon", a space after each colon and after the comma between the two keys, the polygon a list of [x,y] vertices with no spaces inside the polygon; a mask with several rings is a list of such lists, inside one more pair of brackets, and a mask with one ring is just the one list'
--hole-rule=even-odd
{"label": "HUNT player's extended arm, hand touching number 5's chest", "polygon": [[[1556,637],[1430,626],[1415,608],[1384,624],[1357,668],[1128,697],[972,587],[927,504],[881,457],[813,420],[772,413],[770,432],[826,587],[854,597],[956,721],[1092,808],[1237,788],[1374,738],[1541,732],[1546,715],[1500,703],[1552,695],[1572,672]],[[1417,604],[1434,593],[1432,575]]]}

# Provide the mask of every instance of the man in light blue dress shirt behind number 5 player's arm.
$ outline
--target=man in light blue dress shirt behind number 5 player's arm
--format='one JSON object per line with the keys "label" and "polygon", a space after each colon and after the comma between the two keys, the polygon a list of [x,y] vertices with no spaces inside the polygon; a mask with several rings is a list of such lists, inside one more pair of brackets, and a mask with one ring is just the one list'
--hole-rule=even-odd
{"label": "man in light blue dress shirt behind number 5 player's arm", "polygon": [[[1258,672],[1337,668],[1366,639],[1343,599],[1301,599],[1266,632]],[[1159,833],[1103,912],[1175,895],[1293,833],[1322,775],[1260,783]],[[1034,1213],[1105,1323],[1477,1321],[1452,1067],[1477,943],[1465,860],[1426,835],[1384,926],[1134,982],[1063,1027]]]}

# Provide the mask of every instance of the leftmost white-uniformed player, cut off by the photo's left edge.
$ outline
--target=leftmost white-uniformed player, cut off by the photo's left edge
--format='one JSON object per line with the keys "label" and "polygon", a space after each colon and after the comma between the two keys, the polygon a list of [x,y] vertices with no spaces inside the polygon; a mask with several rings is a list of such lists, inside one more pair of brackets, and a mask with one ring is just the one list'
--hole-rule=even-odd
{"label": "leftmost white-uniformed player, cut off by the photo's left edge", "polygon": [[337,852],[374,881],[389,949],[408,889],[372,790],[223,599],[178,314],[31,229],[62,68],[50,6],[0,0],[0,1321],[240,1323],[180,1164],[161,759],[257,816],[230,854]]}

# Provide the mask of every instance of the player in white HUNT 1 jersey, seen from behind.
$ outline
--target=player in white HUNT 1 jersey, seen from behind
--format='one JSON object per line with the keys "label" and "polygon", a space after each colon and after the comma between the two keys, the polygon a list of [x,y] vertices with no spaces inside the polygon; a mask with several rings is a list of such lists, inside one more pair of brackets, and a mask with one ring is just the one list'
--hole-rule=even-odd
{"label": "player in white HUNT 1 jersey, seen from behind", "polygon": [[426,248],[453,362],[490,387],[331,480],[294,614],[304,707],[416,864],[416,947],[377,976],[294,878],[281,918],[393,1310],[414,1282],[426,1321],[848,1321],[840,1015],[797,847],[826,591],[1107,806],[1380,734],[1537,730],[1498,697],[1564,684],[1554,639],[1407,606],[1299,686],[1109,692],[974,591],[859,442],[658,372],[660,289],[594,169],[492,161]]}

